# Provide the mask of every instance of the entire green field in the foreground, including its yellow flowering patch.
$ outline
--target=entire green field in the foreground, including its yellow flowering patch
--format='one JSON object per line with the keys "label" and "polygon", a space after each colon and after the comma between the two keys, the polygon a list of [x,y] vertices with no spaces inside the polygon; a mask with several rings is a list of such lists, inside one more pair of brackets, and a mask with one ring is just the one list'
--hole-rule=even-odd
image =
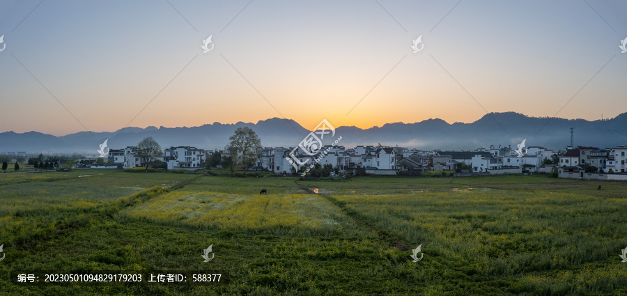
{"label": "entire green field in the foreground, including its yellow flowering patch", "polygon": [[[625,182],[4,173],[0,295],[627,295],[626,221]],[[205,263],[210,244],[215,258]],[[224,279],[63,286],[10,278],[32,270]]]}

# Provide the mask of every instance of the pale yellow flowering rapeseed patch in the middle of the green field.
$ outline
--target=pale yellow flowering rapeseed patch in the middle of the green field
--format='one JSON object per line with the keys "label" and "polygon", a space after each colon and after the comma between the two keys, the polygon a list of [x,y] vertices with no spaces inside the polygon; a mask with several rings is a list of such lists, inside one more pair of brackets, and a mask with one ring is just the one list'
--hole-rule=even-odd
{"label": "pale yellow flowering rapeseed patch in the middle of the green field", "polygon": [[221,228],[253,233],[290,235],[355,233],[355,226],[339,208],[313,194],[241,195],[218,192],[169,192],[120,217]]}

